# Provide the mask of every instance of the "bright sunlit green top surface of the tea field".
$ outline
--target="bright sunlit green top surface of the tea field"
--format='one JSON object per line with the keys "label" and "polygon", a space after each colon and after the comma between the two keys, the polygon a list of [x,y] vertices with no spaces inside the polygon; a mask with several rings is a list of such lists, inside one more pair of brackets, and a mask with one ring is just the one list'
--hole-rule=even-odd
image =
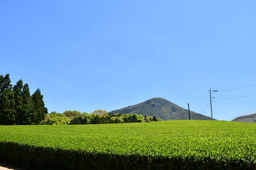
{"label": "bright sunlit green top surface of the tea field", "polygon": [[170,120],[100,125],[0,126],[0,142],[113,155],[256,161],[256,124]]}

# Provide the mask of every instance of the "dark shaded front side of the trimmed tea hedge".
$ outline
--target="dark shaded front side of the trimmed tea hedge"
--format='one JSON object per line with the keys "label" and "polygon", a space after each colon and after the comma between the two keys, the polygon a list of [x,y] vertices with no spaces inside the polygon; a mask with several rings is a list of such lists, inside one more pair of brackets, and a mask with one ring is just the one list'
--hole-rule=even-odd
{"label": "dark shaded front side of the trimmed tea hedge", "polygon": [[0,142],[0,160],[29,169],[256,169],[253,160],[248,164],[242,159],[113,155],[5,141]]}

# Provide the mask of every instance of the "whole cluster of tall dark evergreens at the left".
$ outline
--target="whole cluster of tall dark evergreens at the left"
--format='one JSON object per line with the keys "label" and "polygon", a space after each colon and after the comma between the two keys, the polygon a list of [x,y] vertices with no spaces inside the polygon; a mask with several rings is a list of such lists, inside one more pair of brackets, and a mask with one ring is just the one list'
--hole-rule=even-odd
{"label": "whole cluster of tall dark evergreens at the left", "polygon": [[40,89],[31,96],[29,85],[19,80],[13,86],[10,74],[0,75],[0,124],[40,124],[47,114]]}

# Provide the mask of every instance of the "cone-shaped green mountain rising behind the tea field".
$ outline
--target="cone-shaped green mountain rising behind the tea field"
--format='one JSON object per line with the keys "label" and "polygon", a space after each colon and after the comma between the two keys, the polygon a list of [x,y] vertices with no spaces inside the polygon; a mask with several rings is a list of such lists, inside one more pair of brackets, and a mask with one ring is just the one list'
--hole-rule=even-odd
{"label": "cone-shaped green mountain rising behind the tea field", "polygon": [[[152,98],[143,103],[128,106],[120,110],[113,110],[110,113],[137,113],[139,115],[162,118],[163,120],[189,119],[188,110],[160,97]],[[192,120],[211,120],[210,117],[193,111],[190,111],[190,117]]]}

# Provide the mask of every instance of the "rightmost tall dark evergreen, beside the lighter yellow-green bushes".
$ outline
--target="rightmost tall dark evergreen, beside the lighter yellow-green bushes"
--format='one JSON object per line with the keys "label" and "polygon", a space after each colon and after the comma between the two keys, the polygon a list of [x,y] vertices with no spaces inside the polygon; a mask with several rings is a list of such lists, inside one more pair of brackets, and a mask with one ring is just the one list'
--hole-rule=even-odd
{"label": "rightmost tall dark evergreen, beside the lighter yellow-green bushes", "polygon": [[37,89],[32,95],[33,107],[34,107],[34,119],[33,122],[39,124],[44,120],[46,113],[48,113],[47,108],[45,108],[43,95],[40,89]]}

